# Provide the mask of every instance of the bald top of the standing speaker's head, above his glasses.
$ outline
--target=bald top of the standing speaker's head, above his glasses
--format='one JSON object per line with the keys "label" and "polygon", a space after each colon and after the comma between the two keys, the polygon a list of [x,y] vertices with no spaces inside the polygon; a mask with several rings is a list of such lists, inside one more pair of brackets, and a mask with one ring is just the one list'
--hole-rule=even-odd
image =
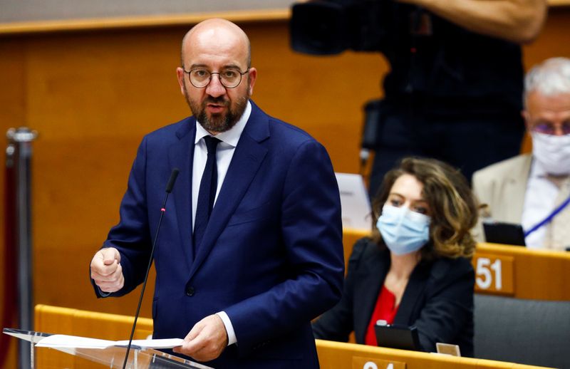
{"label": "bald top of the standing speaker's head, above his glasses", "polygon": [[207,19],[192,27],[182,38],[182,51],[180,53],[180,63],[185,66],[185,56],[189,48],[197,45],[212,46],[217,45],[220,41],[232,44],[234,47],[241,48],[244,52],[246,68],[252,65],[252,46],[249,43],[247,34],[236,24],[226,19],[214,18]]}

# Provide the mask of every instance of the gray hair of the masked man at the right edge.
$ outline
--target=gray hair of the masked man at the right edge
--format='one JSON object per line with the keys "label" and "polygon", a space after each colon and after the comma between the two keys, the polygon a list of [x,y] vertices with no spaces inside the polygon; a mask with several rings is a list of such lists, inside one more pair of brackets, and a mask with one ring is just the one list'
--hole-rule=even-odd
{"label": "gray hair of the masked man at the right edge", "polygon": [[550,58],[534,66],[524,78],[525,106],[534,91],[547,96],[570,93],[570,59]]}

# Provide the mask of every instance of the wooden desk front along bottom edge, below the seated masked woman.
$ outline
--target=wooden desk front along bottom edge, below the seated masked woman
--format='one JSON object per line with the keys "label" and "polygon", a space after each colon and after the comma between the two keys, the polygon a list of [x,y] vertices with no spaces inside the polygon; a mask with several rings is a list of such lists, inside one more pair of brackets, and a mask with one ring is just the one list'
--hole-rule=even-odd
{"label": "wooden desk front along bottom edge, below the seated masked woman", "polygon": [[321,369],[467,369],[467,368],[544,368],[450,355],[379,348],[355,343],[316,340]]}

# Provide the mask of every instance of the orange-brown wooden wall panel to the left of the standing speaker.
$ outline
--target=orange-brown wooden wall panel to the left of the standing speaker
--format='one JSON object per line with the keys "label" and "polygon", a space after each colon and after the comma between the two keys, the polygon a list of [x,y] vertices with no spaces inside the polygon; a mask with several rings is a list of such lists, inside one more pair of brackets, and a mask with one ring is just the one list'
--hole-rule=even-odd
{"label": "orange-brown wooden wall panel to the left of the standing speaker", "polygon": [[[179,56],[166,52],[179,48],[179,33],[105,31],[28,40],[29,63],[38,66],[28,70],[28,120],[40,132],[33,167],[36,302],[135,311],[138,293],[97,300],[88,265],[118,222],[142,135],[186,113],[172,67]],[[150,316],[152,282],[147,291],[143,316]]]}

